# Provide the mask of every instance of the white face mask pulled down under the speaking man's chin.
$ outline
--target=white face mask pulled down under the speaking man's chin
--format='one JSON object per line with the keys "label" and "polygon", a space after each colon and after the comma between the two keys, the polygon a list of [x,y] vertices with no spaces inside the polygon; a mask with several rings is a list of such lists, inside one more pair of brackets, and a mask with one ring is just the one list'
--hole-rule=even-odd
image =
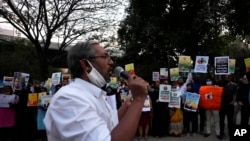
{"label": "white face mask pulled down under the speaking man's chin", "polygon": [[104,77],[93,67],[93,65],[88,61],[89,65],[91,66],[91,71],[88,73],[86,72],[89,80],[91,83],[96,85],[99,88],[102,88],[107,82]]}

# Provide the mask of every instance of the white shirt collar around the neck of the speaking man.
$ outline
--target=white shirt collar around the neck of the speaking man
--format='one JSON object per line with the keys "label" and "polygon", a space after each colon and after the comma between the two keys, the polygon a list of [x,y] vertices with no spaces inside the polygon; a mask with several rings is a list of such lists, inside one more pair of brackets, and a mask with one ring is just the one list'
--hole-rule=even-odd
{"label": "white shirt collar around the neck of the speaking man", "polygon": [[74,80],[76,82],[76,84],[80,84],[80,87],[82,86],[85,86],[86,89],[91,93],[93,94],[95,97],[100,97],[101,95],[107,95],[107,93],[102,90],[101,88],[97,87],[96,85],[90,83],[90,82],[87,82],[83,79],[80,79],[80,78],[75,78]]}

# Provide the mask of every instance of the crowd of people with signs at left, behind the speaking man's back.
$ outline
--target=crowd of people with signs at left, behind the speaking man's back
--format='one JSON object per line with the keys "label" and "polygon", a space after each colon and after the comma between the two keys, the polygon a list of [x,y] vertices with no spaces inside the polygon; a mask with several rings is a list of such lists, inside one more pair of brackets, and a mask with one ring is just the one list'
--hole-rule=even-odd
{"label": "crowd of people with signs at left, behind the speaking man's back", "polygon": [[[62,81],[56,85],[55,89],[59,90],[62,86],[67,85],[68,81]],[[47,140],[45,129],[38,127],[38,113],[46,112],[41,106],[29,107],[28,95],[30,93],[45,92],[49,90],[44,86],[44,82],[29,80],[27,87],[16,90],[13,86],[3,86],[0,89],[0,95],[13,95],[9,106],[0,107],[1,126],[0,141],[45,141]],[[14,117],[14,119],[12,119]]]}

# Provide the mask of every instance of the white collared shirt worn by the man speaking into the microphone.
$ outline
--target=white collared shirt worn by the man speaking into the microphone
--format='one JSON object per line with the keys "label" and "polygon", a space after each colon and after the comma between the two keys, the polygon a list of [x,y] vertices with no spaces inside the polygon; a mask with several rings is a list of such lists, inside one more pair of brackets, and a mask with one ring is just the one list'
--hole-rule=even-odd
{"label": "white collared shirt worn by the man speaking into the microphone", "polygon": [[103,90],[76,78],[53,96],[44,124],[48,141],[110,141],[118,113]]}

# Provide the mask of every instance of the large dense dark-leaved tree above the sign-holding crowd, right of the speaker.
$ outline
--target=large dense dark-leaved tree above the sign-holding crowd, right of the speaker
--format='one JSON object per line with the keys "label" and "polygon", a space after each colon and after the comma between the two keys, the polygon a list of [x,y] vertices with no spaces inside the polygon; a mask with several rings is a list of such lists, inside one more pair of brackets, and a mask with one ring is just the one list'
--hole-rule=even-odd
{"label": "large dense dark-leaved tree above the sign-holding crowd, right of the speaker", "polygon": [[118,30],[124,60],[170,68],[176,67],[178,55],[192,59],[219,55],[225,45],[219,38],[225,4],[223,0],[130,1]]}

